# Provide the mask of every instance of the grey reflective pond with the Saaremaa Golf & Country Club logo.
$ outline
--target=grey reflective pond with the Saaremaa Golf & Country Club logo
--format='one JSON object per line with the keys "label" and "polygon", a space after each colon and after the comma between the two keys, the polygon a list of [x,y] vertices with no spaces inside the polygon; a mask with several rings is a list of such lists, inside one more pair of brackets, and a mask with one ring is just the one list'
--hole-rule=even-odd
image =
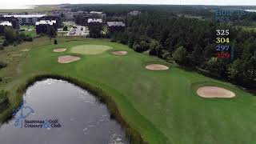
{"label": "grey reflective pond with the Saaremaa Golf & Country Club logo", "polygon": [[0,128],[3,144],[126,144],[125,130],[105,104],[69,82],[46,79],[23,95],[14,118]]}

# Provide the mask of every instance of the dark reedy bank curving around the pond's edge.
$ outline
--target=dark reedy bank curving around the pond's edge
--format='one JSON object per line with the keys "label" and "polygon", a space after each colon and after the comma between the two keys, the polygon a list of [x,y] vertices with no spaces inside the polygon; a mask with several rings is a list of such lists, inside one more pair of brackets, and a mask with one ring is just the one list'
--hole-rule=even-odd
{"label": "dark reedy bank curving around the pond's edge", "polygon": [[[124,129],[126,130],[126,136],[130,140],[130,143],[148,143],[142,138],[142,135],[138,132],[138,130],[135,130],[132,126],[130,126],[128,122],[126,122],[126,120],[122,117],[122,114],[118,110],[118,106],[116,106],[116,103],[114,102],[113,98],[109,94],[107,94],[105,90],[102,90],[102,88],[98,86],[93,86],[87,82],[81,82],[77,78],[71,78],[69,76],[60,76],[58,74],[42,74],[30,78],[26,81],[26,85],[19,86],[16,92],[20,96],[19,98],[21,98],[20,100],[18,100],[19,105],[22,102],[22,94],[26,92],[28,87],[34,85],[35,82],[42,81],[47,78],[70,82],[75,86],[79,86],[82,89],[87,90],[90,94],[94,94],[95,98],[97,98],[99,102],[106,104],[106,107],[110,112],[111,118],[116,119],[120,123],[120,125],[124,127]],[[4,119],[5,122],[12,118],[10,110],[6,110],[6,114],[7,116]]]}

